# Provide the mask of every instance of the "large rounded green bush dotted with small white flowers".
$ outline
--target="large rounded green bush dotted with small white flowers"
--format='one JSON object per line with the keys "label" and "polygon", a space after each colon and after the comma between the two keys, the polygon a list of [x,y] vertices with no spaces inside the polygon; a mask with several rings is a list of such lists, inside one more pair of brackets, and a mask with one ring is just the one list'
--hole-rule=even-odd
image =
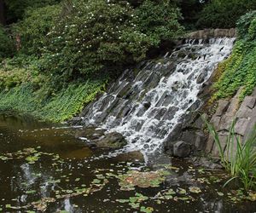
{"label": "large rounded green bush dotted with small white flowers", "polygon": [[138,30],[134,20],[127,2],[64,4],[59,22],[47,35],[45,69],[69,81],[143,60],[154,41]]}

